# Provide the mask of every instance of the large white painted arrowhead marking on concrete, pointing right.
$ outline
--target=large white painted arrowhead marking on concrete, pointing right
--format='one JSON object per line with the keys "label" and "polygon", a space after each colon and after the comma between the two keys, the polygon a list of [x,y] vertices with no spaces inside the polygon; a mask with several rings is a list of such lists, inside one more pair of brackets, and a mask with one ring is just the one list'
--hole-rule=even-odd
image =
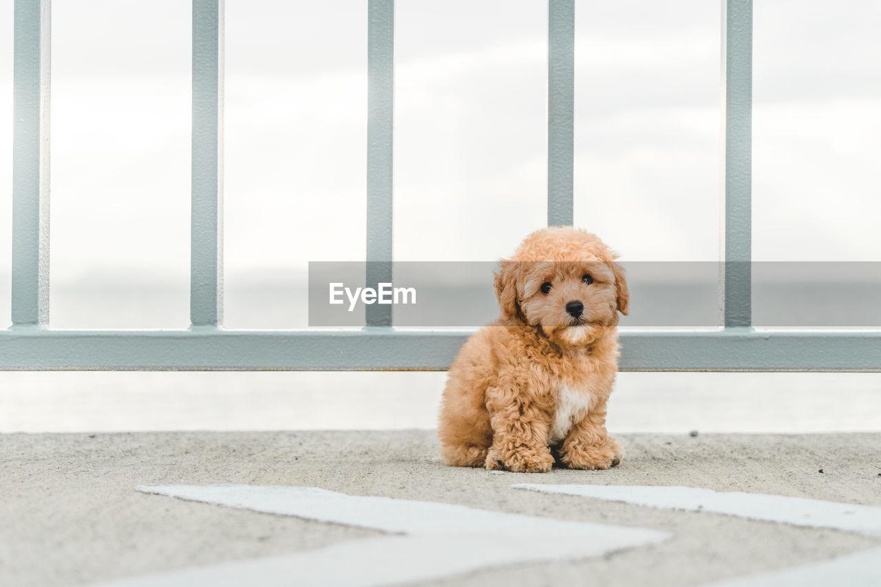
{"label": "large white painted arrowhead marking on concrete, pointing right", "polygon": [[103,584],[389,585],[524,562],[584,559],[670,538],[666,532],[641,528],[567,522],[448,503],[339,494],[317,487],[146,485],[137,490],[397,535]]}

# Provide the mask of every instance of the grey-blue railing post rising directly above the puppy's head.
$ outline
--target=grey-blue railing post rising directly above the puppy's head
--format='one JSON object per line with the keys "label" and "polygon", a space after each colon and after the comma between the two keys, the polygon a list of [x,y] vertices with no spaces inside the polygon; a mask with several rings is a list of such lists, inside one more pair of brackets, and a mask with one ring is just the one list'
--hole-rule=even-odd
{"label": "grey-blue railing post rising directly above the puppy's head", "polygon": [[548,2],[548,226],[573,224],[575,4]]}

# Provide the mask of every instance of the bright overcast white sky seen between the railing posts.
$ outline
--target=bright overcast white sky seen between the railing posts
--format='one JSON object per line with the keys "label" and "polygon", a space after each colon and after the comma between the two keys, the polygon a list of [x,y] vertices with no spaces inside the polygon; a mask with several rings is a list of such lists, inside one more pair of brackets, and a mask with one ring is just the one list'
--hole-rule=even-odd
{"label": "bright overcast white sky seen between the railing posts", "polygon": [[[396,255],[506,255],[545,219],[546,2],[396,4]],[[189,11],[53,5],[59,282],[186,283]],[[576,19],[576,224],[627,260],[715,259],[720,3],[580,1]],[[756,0],[754,26],[755,258],[881,260],[881,2]],[[366,0],[226,0],[226,67],[227,279],[362,258]],[[11,115],[0,135],[8,271]]]}

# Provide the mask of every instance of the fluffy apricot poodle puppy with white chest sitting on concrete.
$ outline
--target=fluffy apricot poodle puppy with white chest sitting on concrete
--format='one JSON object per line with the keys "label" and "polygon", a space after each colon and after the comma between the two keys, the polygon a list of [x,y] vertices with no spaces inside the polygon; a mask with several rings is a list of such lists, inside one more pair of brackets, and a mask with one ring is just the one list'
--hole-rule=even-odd
{"label": "fluffy apricot poodle puppy with white chest sitting on concrete", "polygon": [[618,312],[629,291],[617,255],[594,234],[529,234],[495,274],[501,316],[449,368],[438,435],[446,464],[548,472],[608,469],[623,451],[606,434],[618,371]]}

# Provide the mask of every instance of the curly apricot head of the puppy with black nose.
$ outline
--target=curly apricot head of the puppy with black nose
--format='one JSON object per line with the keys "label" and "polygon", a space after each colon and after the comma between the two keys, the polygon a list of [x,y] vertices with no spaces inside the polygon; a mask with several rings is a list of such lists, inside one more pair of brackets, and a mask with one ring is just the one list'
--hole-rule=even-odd
{"label": "curly apricot head of the puppy with black nose", "polygon": [[629,291],[617,255],[594,234],[549,227],[529,234],[495,276],[502,316],[563,346],[585,346],[627,314]]}

